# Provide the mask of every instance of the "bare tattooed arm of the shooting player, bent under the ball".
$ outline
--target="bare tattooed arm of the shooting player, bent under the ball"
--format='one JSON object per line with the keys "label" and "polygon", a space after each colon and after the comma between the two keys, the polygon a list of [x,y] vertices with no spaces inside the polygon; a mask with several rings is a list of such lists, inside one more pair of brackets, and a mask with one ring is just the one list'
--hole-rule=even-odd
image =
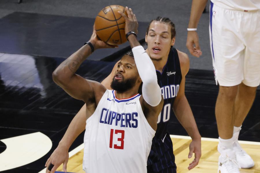
{"label": "bare tattooed arm of the shooting player, bent under the ball", "polygon": [[[90,38],[90,42],[94,46],[94,50],[100,48],[116,47],[105,44],[97,39],[96,31]],[[73,98],[88,102],[93,100],[96,94],[106,89],[103,85],[96,81],[86,80],[83,77],[75,74],[82,62],[91,54],[91,47],[86,44],[77,52],[68,57],[62,62],[53,72],[53,81],[57,83],[65,92]],[[97,92],[95,92],[97,91]],[[103,94],[102,94],[103,95]]]}

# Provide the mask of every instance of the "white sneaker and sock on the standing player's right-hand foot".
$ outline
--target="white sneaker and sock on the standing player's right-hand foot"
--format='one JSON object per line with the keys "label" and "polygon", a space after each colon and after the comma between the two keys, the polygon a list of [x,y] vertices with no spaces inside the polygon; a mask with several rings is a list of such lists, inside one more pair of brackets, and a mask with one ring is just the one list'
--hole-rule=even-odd
{"label": "white sneaker and sock on the standing player's right-hand foot", "polygon": [[233,134],[233,137],[235,138],[235,142],[233,144],[233,150],[236,152],[237,162],[241,168],[252,168],[255,163],[253,159],[242,149],[242,147],[238,143],[238,134],[239,132],[236,132]]}

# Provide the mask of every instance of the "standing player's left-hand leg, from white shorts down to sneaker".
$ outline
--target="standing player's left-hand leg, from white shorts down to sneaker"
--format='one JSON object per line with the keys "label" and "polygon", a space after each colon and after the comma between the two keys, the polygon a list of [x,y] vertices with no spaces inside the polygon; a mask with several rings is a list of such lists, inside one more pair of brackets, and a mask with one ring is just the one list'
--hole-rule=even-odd
{"label": "standing player's left-hand leg, from white shorts down to sneaker", "polygon": [[210,46],[216,81],[220,85],[215,113],[220,136],[218,169],[221,173],[239,173],[233,150],[233,111],[238,85],[244,79],[245,45],[237,25],[241,19],[237,16],[235,10],[223,9],[211,2]]}

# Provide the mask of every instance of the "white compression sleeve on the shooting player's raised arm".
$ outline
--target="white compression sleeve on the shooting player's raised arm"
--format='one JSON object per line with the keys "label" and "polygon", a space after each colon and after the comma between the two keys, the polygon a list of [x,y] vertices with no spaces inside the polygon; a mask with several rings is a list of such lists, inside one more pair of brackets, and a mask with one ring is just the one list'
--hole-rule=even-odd
{"label": "white compression sleeve on the shooting player's raised arm", "polygon": [[142,46],[132,49],[138,73],[142,79],[142,95],[144,100],[155,107],[161,102],[161,89],[157,83],[157,75],[152,60]]}

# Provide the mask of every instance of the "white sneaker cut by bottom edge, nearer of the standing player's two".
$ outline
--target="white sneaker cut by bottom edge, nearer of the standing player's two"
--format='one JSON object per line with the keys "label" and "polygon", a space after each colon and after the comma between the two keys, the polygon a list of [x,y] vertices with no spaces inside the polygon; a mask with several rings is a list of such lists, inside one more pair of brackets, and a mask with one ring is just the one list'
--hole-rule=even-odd
{"label": "white sneaker cut by bottom edge, nearer of the standing player's two", "polygon": [[240,173],[235,151],[225,149],[218,158],[218,173]]}

